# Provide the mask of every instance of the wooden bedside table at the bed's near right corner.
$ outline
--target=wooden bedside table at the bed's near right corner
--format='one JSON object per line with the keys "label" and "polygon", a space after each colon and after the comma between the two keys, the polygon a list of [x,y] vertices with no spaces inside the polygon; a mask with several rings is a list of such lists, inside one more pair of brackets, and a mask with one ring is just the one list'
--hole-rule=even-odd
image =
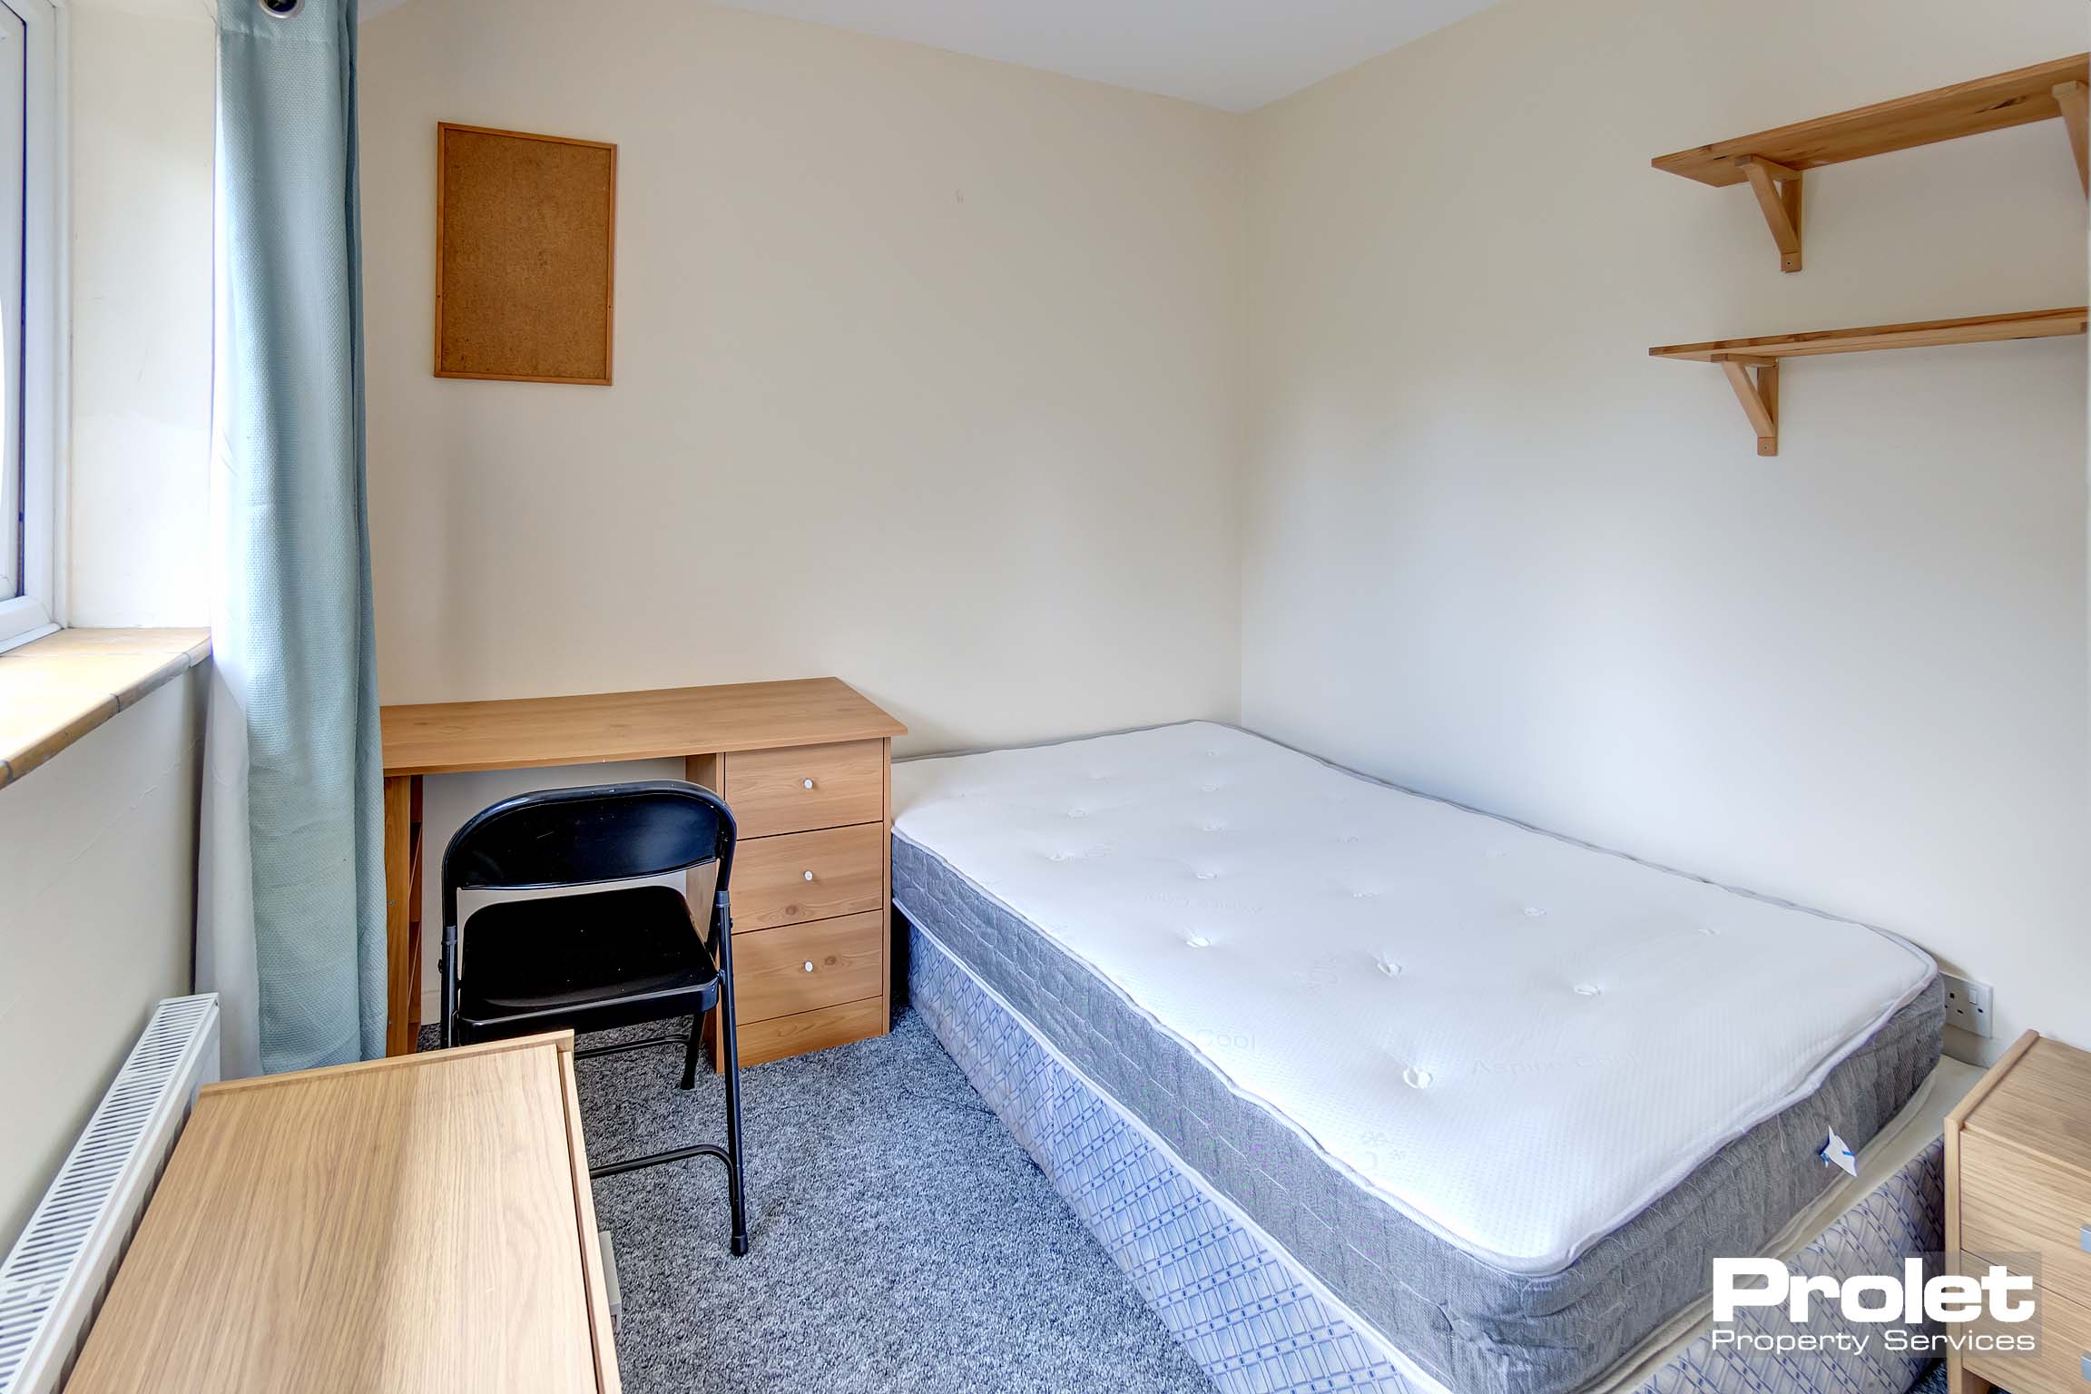
{"label": "wooden bedside table at the bed's near right corner", "polygon": [[1947,1114],[1945,1149],[1947,1258],[1982,1271],[2037,1256],[2041,1327],[2039,1354],[1949,1348],[1949,1394],[2091,1394],[2091,1053],[2028,1030]]}

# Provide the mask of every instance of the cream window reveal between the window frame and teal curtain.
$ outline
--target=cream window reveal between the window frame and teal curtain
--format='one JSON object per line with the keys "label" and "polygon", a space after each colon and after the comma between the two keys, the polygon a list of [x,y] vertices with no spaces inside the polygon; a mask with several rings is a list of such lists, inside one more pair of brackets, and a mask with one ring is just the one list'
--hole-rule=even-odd
{"label": "cream window reveal between the window frame and teal curtain", "polygon": [[73,625],[203,625],[211,109],[203,0],[69,6]]}

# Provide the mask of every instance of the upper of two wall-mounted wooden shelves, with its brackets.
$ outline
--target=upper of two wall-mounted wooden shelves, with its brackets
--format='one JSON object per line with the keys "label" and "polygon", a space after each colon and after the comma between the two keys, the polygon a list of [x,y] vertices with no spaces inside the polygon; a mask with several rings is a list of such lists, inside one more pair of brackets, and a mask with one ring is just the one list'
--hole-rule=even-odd
{"label": "upper of two wall-mounted wooden shelves, with its brackets", "polygon": [[2091,94],[2091,54],[2074,54],[1936,92],[1840,111],[1834,117],[1717,140],[1650,163],[1717,188],[1748,184],[1765,226],[1771,228],[1771,240],[1779,247],[1779,270],[1798,272],[1800,176],[1821,165],[2062,117],[2070,150],[2076,155],[2076,178],[2091,194],[2087,94]]}

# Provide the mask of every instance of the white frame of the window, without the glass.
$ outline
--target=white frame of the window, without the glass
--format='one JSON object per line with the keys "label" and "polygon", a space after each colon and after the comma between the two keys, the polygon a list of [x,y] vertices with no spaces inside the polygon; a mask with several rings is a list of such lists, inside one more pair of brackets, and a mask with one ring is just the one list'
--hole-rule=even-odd
{"label": "white frame of the window, without the glass", "polygon": [[52,0],[4,0],[27,27],[23,54],[23,286],[21,286],[21,596],[0,600],[0,650],[50,633],[65,606],[59,556],[59,487],[65,364],[59,357],[65,313],[65,10]]}

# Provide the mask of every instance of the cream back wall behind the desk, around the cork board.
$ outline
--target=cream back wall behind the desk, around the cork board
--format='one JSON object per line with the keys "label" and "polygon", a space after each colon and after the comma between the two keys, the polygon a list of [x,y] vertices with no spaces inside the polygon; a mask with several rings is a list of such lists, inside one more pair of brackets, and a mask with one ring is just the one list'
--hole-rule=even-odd
{"label": "cream back wall behind the desk, around the cork board", "polygon": [[[387,702],[1234,715],[1238,117],[690,0],[414,0],[360,75]],[[431,376],[439,119],[619,142],[615,387]]]}

